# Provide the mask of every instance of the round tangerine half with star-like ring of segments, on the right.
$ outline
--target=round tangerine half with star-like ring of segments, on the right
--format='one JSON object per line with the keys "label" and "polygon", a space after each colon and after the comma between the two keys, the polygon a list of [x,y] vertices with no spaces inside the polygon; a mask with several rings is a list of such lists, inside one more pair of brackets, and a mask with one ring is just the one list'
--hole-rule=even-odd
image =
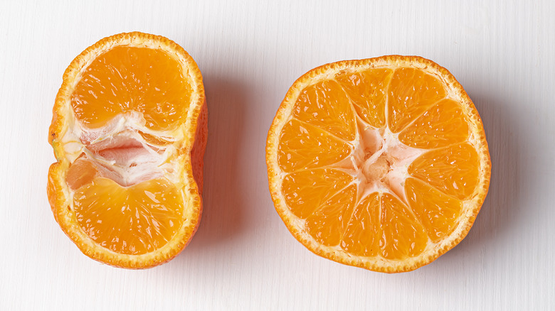
{"label": "round tangerine half with star-like ring of segments, on the right", "polygon": [[270,192],[293,236],[339,263],[419,268],[458,244],[490,183],[482,121],[430,60],[384,56],[317,67],[268,133]]}

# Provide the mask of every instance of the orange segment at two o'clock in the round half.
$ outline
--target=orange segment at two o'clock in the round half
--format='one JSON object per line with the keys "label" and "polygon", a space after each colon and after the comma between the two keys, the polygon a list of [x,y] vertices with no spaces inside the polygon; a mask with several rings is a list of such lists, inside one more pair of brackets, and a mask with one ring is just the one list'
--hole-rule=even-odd
{"label": "orange segment at two o'clock in the round half", "polygon": [[416,148],[440,148],[468,139],[468,121],[453,99],[442,99],[406,129],[399,141]]}

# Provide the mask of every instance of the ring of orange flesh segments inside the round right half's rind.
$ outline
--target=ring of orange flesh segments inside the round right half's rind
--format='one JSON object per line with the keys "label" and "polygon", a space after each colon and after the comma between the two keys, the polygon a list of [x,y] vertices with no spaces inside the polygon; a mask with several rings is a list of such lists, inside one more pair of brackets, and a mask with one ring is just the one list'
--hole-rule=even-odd
{"label": "ring of orange flesh segments inside the round right half's rind", "polygon": [[[342,72],[301,91],[280,133],[277,163],[286,173],[285,202],[305,219],[315,241],[356,256],[401,260],[418,256],[428,241],[437,243],[453,231],[461,200],[475,191],[480,164],[467,143],[465,114],[446,97],[443,82],[404,67]],[[381,141],[364,148],[354,167],[349,163],[356,131],[361,146],[374,146],[376,138],[361,134],[366,129],[397,133],[398,154],[403,148],[421,154],[408,163],[401,193],[371,188],[388,187],[384,176],[399,161],[388,151],[361,169]],[[354,170],[365,176],[363,182],[357,182]]]}

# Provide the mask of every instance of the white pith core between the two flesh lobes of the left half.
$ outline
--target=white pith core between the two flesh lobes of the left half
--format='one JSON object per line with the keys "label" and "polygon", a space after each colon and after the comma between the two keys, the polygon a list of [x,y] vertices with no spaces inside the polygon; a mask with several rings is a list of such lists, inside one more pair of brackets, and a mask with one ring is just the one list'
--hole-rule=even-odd
{"label": "white pith core between the two flesh lobes of the left half", "polygon": [[162,137],[169,142],[176,139],[147,129],[141,113],[119,114],[99,129],[88,129],[75,120],[73,113],[70,115],[73,120],[62,137],[65,156],[70,163],[84,157],[95,165],[101,177],[125,187],[163,175],[174,179],[171,178],[173,165],[168,158],[176,151],[175,146],[171,143],[156,146],[140,133]]}

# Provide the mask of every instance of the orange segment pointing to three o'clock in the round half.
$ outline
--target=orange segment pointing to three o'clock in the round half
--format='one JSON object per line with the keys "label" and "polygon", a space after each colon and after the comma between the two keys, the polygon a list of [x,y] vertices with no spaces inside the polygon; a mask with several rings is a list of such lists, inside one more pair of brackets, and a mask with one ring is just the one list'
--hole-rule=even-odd
{"label": "orange segment pointing to three o'clock in the round half", "polygon": [[474,193],[480,181],[480,158],[469,143],[424,153],[408,167],[413,177],[460,200]]}

